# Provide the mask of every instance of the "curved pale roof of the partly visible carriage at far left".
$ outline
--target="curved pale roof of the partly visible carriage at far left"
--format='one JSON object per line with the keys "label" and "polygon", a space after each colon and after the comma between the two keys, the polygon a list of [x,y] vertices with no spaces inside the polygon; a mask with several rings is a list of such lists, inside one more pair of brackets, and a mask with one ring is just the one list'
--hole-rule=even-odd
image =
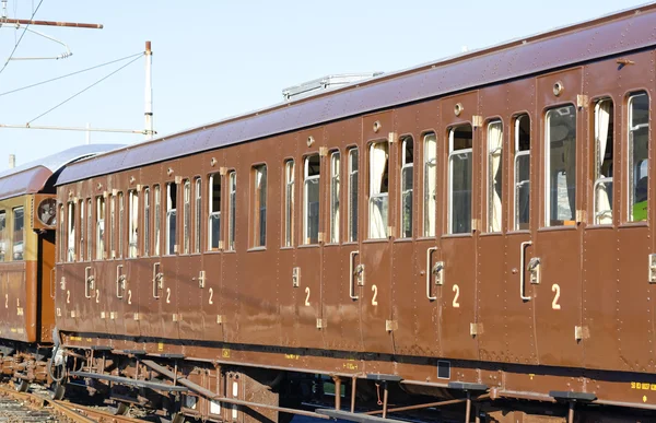
{"label": "curved pale roof of the partly visible carriage at far left", "polygon": [[68,164],[124,146],[124,144],[85,144],[25,163],[0,173],[0,200],[42,191]]}

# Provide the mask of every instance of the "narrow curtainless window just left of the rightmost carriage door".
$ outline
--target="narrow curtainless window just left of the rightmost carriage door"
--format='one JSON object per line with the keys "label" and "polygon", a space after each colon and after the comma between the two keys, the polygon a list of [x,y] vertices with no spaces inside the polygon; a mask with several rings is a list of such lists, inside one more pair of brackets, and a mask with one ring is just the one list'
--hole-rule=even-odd
{"label": "narrow curtainless window just left of the rightmost carriage door", "polygon": [[530,211],[530,118],[515,119],[515,230],[529,228]]}

